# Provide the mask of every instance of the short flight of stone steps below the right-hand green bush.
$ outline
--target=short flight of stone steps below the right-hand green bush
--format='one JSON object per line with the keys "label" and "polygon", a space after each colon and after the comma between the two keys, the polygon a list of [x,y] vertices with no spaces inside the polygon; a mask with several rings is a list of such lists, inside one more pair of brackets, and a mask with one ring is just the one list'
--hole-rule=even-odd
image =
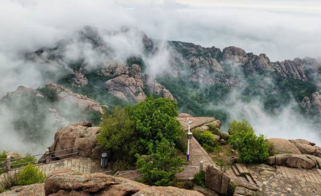
{"label": "short flight of stone steps below the right-hand green bush", "polygon": [[231,167],[229,171],[226,172],[228,176],[237,178],[249,183],[255,183],[250,172],[244,164],[237,163]]}

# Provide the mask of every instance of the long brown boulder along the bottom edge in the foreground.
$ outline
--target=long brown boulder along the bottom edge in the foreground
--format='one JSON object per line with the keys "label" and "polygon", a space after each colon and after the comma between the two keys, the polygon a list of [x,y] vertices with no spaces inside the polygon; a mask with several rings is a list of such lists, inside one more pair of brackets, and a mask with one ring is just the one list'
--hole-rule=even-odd
{"label": "long brown boulder along the bottom edge in the foreground", "polygon": [[174,187],[150,187],[102,173],[80,174],[62,169],[48,175],[46,196],[203,196]]}

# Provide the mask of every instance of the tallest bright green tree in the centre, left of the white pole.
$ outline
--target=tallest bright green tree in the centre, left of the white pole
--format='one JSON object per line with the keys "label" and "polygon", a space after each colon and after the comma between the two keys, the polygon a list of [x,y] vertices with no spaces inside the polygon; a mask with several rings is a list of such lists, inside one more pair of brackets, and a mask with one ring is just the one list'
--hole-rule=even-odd
{"label": "tallest bright green tree in the centre, left of the white pole", "polygon": [[135,124],[139,141],[148,150],[150,143],[166,138],[176,142],[179,138],[180,124],[176,121],[177,104],[168,98],[153,96],[134,106],[128,107],[130,117]]}

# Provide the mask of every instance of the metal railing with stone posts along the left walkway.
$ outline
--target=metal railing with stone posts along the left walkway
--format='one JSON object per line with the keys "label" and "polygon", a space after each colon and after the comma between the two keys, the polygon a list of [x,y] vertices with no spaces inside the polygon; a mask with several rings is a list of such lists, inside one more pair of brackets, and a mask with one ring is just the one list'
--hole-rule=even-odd
{"label": "metal railing with stone posts along the left walkway", "polygon": [[[46,149],[46,152],[43,153],[43,154],[36,154],[36,155],[31,155],[31,156],[27,156],[27,157],[20,157],[20,158],[15,158],[15,159],[11,159],[10,156],[7,156],[6,157],[6,160],[5,161],[2,161],[0,164],[3,164],[5,163],[5,166],[0,168],[0,169],[6,169],[6,172],[10,171],[11,170],[11,167],[14,167],[14,166],[18,166],[18,165],[26,165],[28,163],[35,163],[35,162],[39,162],[39,161],[45,161],[46,164],[50,162],[50,159],[53,159],[53,158],[57,158],[57,157],[63,157],[63,156],[68,156],[68,155],[74,155],[74,154],[79,154],[79,151],[78,152],[74,152],[74,153],[69,153],[69,154],[63,154],[63,155],[58,155],[58,156],[53,156],[51,157],[51,154],[55,153],[55,152],[63,152],[63,151],[67,151],[67,150],[74,150],[74,149],[79,149],[79,147],[76,147],[76,148],[68,148],[68,149],[63,149],[63,150],[56,150],[56,151],[52,151],[52,152],[49,152],[49,149]],[[39,160],[34,160],[34,161],[26,161],[26,162],[23,162],[23,163],[17,163],[17,164],[13,164],[11,165],[11,163],[14,161],[17,161],[17,160],[21,160],[21,159],[26,159],[26,158],[31,158],[31,157],[36,157],[36,156],[45,156],[44,159],[39,159]]]}

